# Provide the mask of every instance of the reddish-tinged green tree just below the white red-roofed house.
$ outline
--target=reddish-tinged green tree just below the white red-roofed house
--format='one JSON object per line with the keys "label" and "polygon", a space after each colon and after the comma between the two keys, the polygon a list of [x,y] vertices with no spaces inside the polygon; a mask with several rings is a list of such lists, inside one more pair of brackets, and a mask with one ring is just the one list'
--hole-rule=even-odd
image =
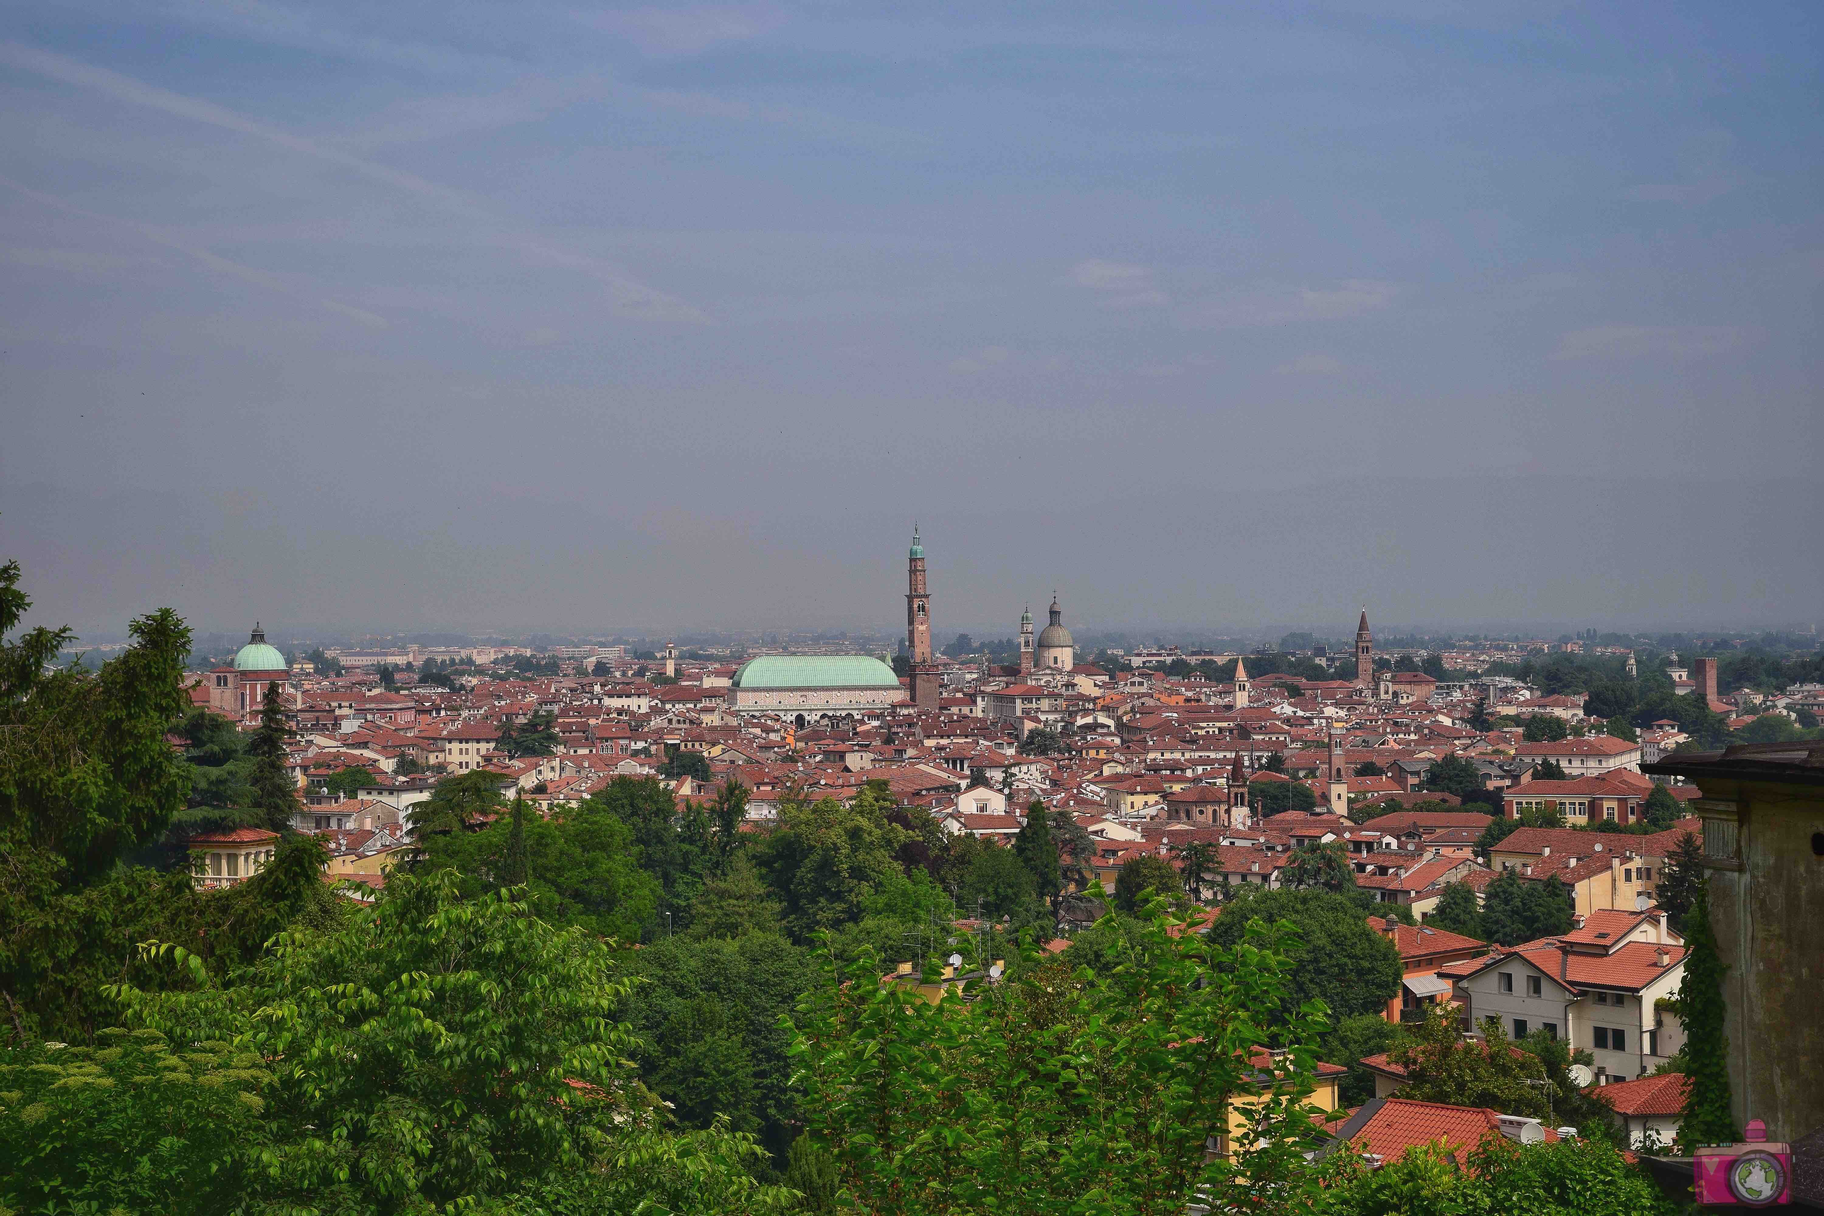
{"label": "reddish-tinged green tree just below the white red-roofed house", "polygon": [[1456,1005],[1432,1003],[1425,1021],[1408,1026],[1410,1037],[1388,1059],[1406,1070],[1399,1096],[1448,1107],[1488,1107],[1501,1114],[1543,1119],[1549,1103],[1543,1088],[1545,1065],[1536,1056],[1510,1048],[1501,1021],[1481,1023],[1481,1041],[1463,1041]]}

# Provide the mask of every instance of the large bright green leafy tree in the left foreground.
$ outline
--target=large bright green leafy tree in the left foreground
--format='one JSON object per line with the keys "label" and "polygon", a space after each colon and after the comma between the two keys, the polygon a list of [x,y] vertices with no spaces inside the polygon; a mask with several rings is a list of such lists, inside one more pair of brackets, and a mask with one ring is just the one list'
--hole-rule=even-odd
{"label": "large bright green leafy tree in the left foreground", "polygon": [[259,1211],[779,1211],[751,1138],[662,1130],[624,1063],[631,990],[586,930],[441,871],[394,875],[232,986],[113,995],[137,1026],[266,1063],[264,1136],[239,1161]]}

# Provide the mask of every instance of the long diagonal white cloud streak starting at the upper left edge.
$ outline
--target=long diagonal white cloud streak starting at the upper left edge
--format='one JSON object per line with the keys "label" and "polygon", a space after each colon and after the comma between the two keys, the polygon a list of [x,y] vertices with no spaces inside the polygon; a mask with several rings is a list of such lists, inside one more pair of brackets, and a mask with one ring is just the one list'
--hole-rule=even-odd
{"label": "long diagonal white cloud streak starting at the upper left edge", "polygon": [[564,248],[544,237],[529,235],[525,232],[513,230],[505,226],[492,211],[472,201],[469,195],[451,190],[449,186],[440,186],[416,173],[405,173],[390,166],[358,157],[341,148],[303,139],[283,131],[264,122],[255,122],[232,109],[215,106],[213,102],[197,100],[193,97],[184,97],[182,93],[173,93],[170,89],[161,89],[151,84],[144,84],[131,77],[124,77],[117,71],[106,67],[93,67],[62,55],[53,55],[51,51],[40,51],[20,42],[0,42],[0,64],[9,64],[22,71],[35,73],[51,80],[71,84],[77,88],[95,89],[108,97],[135,106],[146,106],[150,109],[159,109],[179,119],[190,119],[193,122],[202,122],[226,131],[235,131],[239,135],[248,135],[254,139],[266,140],[286,151],[294,151],[303,157],[314,157],[328,164],[339,166],[343,170],[352,170],[361,177],[367,177],[398,190],[405,190],[420,199],[427,199],[445,208],[447,211],[474,222],[487,226],[491,237],[496,244],[516,252],[520,257],[531,263],[540,263],[547,266],[564,266],[591,275],[607,288],[613,306],[622,315],[640,315],[649,319],[666,321],[702,321],[702,314],[664,292],[657,292],[648,284],[640,283],[618,266],[606,263],[598,257],[578,253],[575,250]]}

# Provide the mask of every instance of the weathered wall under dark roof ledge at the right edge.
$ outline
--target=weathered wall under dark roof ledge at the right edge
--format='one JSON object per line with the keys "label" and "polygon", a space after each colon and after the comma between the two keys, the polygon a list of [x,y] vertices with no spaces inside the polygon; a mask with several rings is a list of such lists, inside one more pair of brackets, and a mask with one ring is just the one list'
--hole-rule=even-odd
{"label": "weathered wall under dark roof ledge at the right edge", "polygon": [[1711,921],[1724,964],[1729,1083],[1736,1127],[1767,1139],[1824,1127],[1824,788],[1698,780],[1711,820],[1736,826],[1736,855],[1707,859]]}

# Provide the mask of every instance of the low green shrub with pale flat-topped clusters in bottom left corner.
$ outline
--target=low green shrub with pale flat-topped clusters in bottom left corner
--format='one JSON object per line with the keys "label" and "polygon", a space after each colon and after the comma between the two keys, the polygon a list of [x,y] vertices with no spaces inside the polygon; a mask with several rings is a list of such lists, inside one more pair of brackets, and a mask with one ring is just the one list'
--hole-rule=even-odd
{"label": "low green shrub with pale flat-topped clusters in bottom left corner", "polygon": [[0,1207],[9,1212],[233,1212],[264,1141],[272,1074],[223,1041],[104,1030],[98,1046],[0,1048]]}

